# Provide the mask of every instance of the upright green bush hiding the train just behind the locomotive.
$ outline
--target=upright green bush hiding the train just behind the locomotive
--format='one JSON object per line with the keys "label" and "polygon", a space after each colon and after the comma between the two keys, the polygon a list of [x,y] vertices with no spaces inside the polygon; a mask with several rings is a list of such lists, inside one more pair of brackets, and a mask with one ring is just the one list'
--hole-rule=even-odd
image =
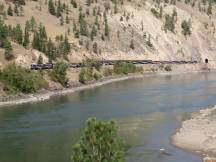
{"label": "upright green bush hiding the train just behind the locomotive", "polygon": [[63,62],[58,62],[50,72],[53,81],[59,82],[62,86],[67,86],[68,79],[66,77],[68,66]]}

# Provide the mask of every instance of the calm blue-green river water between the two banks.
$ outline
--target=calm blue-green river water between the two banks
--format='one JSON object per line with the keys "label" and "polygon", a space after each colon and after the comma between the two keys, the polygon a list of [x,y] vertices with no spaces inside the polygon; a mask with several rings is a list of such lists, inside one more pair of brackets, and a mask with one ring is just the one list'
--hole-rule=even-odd
{"label": "calm blue-green river water between the two banks", "polygon": [[[216,104],[216,73],[149,76],[0,109],[0,162],[70,162],[89,117],[115,119],[127,162],[201,162],[170,144],[189,114]],[[161,153],[159,149],[165,149]]]}

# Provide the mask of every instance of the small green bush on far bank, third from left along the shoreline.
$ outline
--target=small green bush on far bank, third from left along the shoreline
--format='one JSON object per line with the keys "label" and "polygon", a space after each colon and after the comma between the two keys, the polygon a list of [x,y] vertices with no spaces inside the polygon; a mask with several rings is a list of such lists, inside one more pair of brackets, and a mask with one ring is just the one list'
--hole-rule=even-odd
{"label": "small green bush on far bank, third from left along the shoreline", "polygon": [[82,68],[79,74],[79,82],[85,83],[87,81],[93,80],[93,68]]}

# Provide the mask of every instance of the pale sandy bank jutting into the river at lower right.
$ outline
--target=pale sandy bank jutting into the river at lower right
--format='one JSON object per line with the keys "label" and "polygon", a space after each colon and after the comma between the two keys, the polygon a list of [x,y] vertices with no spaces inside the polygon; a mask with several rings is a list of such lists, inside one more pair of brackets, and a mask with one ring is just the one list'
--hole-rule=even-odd
{"label": "pale sandy bank jutting into the river at lower right", "polygon": [[216,106],[192,114],[172,136],[171,142],[200,154],[203,162],[216,162]]}

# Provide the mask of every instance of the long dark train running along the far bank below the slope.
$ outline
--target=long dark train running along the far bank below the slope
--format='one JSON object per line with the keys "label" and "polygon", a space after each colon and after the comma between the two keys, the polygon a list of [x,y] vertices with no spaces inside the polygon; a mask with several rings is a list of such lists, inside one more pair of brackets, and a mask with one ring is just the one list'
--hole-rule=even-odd
{"label": "long dark train running along the far bank below the slope", "polygon": [[[99,61],[101,65],[115,65],[117,63],[132,63],[134,65],[144,65],[144,64],[196,64],[198,61],[152,61],[152,60],[102,60]],[[31,70],[46,70],[53,69],[55,64],[31,64]],[[70,63],[68,64],[70,68],[81,68],[82,63]]]}

